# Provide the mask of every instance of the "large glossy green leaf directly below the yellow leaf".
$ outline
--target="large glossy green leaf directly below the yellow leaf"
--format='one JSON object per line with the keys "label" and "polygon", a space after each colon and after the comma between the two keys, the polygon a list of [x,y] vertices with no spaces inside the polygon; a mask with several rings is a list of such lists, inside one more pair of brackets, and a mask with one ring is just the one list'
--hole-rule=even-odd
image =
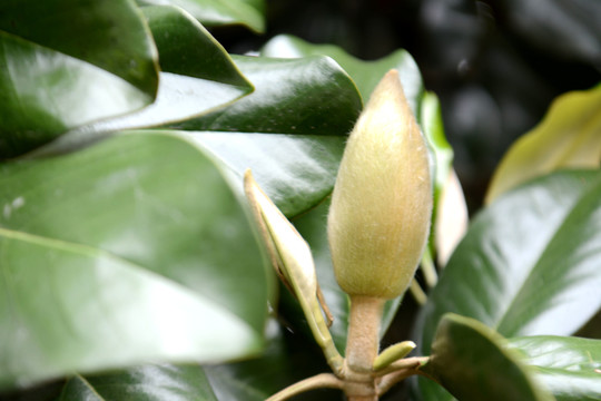
{"label": "large glossy green leaf directly below the yellow leaf", "polygon": [[423,309],[420,352],[430,352],[446,312],[504,336],[578,330],[601,306],[600,214],[599,172],[553,174],[499,198],[474,219]]}

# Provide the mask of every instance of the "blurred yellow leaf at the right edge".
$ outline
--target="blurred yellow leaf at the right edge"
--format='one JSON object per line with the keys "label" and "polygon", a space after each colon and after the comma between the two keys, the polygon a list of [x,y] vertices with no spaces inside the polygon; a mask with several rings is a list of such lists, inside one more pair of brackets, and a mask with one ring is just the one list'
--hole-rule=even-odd
{"label": "blurred yellow leaf at the right edge", "polygon": [[486,202],[553,170],[600,167],[599,110],[601,85],[558,97],[539,126],[510,148],[494,174]]}

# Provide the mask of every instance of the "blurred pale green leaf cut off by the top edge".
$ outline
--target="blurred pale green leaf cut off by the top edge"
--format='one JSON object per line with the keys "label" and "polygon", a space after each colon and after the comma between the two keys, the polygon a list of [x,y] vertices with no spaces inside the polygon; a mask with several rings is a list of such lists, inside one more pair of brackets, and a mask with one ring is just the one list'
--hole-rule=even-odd
{"label": "blurred pale green leaf cut off by the top edge", "polygon": [[265,30],[260,0],[137,0],[141,6],[177,6],[206,26],[244,25]]}

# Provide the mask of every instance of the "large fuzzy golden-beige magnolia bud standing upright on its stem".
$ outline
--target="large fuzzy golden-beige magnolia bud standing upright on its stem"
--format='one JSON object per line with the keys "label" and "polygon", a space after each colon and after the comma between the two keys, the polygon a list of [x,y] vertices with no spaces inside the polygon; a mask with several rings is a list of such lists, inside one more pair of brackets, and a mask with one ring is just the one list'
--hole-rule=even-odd
{"label": "large fuzzy golden-beige magnolia bud standing upright on its stem", "polygon": [[334,271],[347,294],[393,299],[406,291],[432,202],[425,139],[391,70],[351,133],[329,208]]}

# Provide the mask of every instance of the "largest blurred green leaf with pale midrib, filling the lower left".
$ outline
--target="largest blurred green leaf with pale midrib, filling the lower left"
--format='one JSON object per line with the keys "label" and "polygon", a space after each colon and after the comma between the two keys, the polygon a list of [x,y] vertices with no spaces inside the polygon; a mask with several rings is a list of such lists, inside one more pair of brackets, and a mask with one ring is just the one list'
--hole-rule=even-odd
{"label": "largest blurred green leaf with pale midrib, filling the lower left", "polygon": [[245,207],[189,143],[119,136],[3,165],[0,188],[2,387],[260,346],[270,281]]}

